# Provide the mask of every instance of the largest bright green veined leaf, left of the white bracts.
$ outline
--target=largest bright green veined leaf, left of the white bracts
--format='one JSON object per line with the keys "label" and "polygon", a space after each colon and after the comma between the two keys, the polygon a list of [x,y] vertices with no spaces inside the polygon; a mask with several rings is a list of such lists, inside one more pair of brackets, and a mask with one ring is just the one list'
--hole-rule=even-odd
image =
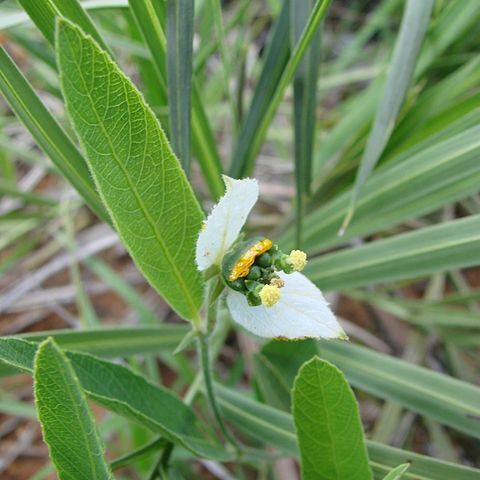
{"label": "largest bright green veined leaf, left of the white bracts", "polygon": [[194,246],[203,214],[163,130],[92,38],[61,19],[56,45],[67,111],[122,240],[172,308],[198,319]]}

